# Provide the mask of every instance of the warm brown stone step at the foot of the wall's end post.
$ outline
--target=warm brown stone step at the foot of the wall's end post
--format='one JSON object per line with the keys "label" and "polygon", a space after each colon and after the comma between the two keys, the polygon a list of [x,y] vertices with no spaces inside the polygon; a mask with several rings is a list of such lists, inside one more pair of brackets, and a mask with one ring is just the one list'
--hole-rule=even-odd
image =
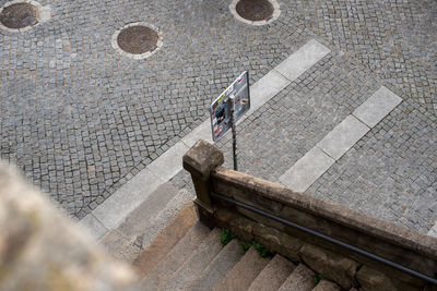
{"label": "warm brown stone step at the foot of the wall's end post", "polygon": [[152,270],[173,248],[173,246],[188,232],[196,223],[197,216],[194,206],[184,208],[178,216],[155,238],[137,258],[132,266],[140,275],[145,276]]}

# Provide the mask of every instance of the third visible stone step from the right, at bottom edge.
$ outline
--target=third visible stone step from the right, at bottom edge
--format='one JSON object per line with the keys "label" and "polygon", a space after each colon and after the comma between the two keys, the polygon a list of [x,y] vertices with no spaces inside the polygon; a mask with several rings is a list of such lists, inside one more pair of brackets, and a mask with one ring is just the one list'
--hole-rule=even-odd
{"label": "third visible stone step from the right, at bottom edge", "polygon": [[248,290],[275,291],[285,282],[295,268],[296,265],[276,254],[257,276]]}

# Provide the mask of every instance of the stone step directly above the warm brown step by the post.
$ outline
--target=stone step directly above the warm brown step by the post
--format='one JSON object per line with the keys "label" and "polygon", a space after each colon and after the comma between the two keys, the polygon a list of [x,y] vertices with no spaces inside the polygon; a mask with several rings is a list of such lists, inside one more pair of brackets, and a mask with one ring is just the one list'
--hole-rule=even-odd
{"label": "stone step directly above the warm brown step by the post", "polygon": [[203,242],[211,230],[196,222],[186,235],[167,253],[167,255],[147,272],[147,278],[155,286],[164,284],[165,281],[189,258],[194,250]]}

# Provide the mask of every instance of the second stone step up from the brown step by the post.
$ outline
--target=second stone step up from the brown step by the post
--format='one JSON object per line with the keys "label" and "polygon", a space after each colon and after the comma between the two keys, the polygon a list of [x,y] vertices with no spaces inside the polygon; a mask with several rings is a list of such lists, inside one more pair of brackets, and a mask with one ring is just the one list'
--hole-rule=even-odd
{"label": "second stone step up from the brown step by the post", "polygon": [[208,238],[199,245],[182,266],[167,282],[161,288],[162,290],[182,290],[190,286],[198,276],[208,267],[212,259],[222,251],[220,241],[221,230],[213,229]]}

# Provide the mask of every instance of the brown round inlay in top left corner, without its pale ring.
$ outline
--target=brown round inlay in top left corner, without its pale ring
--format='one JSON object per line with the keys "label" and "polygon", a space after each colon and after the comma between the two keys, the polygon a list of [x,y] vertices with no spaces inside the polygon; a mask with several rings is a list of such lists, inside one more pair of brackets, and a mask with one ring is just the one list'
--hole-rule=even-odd
{"label": "brown round inlay in top left corner, without its pale ring", "polygon": [[3,7],[0,22],[8,28],[20,29],[38,23],[38,9],[29,3],[21,2]]}

